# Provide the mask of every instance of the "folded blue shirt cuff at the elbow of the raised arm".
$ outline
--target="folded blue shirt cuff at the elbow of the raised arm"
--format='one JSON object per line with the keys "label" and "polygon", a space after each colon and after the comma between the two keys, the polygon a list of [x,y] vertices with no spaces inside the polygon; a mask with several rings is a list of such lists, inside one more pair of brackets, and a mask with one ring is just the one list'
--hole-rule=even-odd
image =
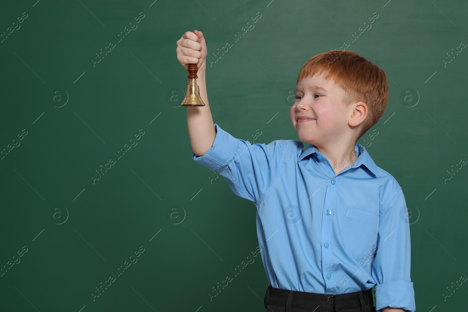
{"label": "folded blue shirt cuff at the elbow of the raised arm", "polygon": [[203,155],[197,156],[192,150],[192,157],[197,163],[211,169],[219,169],[229,164],[239,146],[239,139],[222,130],[219,125],[214,124],[216,136],[213,146]]}

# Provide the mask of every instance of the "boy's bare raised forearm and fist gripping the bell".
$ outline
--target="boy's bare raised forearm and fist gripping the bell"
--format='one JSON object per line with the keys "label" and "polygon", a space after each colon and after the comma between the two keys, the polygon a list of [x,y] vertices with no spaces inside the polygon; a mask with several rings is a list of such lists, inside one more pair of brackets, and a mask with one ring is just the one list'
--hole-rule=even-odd
{"label": "boy's bare raised forearm and fist gripping the bell", "polygon": [[[203,156],[212,147],[216,131],[206,93],[206,50],[205,38],[201,31],[187,31],[177,41],[177,60],[187,70],[189,64],[197,64],[197,85],[200,97],[206,106],[187,106],[187,126],[190,145],[197,156]],[[187,84],[190,79],[187,79]]]}

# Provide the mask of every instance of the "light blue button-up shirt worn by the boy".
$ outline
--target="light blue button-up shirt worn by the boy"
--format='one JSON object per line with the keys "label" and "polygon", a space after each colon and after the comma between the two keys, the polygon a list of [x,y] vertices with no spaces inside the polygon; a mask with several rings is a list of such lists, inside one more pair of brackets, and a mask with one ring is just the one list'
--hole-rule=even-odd
{"label": "light blue button-up shirt worn by the boy", "polygon": [[375,287],[376,310],[416,310],[407,208],[395,178],[364,146],[338,174],[317,148],[294,140],[251,145],[216,123],[193,160],[217,170],[256,205],[258,243],[272,287],[343,294]]}

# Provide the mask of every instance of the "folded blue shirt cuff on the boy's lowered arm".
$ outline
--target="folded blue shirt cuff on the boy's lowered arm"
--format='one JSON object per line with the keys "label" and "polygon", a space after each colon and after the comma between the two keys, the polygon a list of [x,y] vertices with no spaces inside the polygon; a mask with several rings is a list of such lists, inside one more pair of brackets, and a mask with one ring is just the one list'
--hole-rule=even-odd
{"label": "folded blue shirt cuff on the boy's lowered arm", "polygon": [[403,308],[409,312],[416,310],[413,282],[400,280],[375,286],[375,310]]}

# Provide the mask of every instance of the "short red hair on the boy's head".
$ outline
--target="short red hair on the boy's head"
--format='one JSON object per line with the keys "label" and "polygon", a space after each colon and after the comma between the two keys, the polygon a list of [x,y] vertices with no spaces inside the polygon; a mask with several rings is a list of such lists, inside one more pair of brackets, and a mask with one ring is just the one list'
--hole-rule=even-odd
{"label": "short red hair on the boy's head", "polygon": [[356,52],[330,50],[309,58],[300,69],[297,83],[316,73],[321,73],[324,80],[331,79],[346,92],[343,100],[346,106],[359,101],[367,104],[367,116],[357,141],[385,112],[388,102],[385,72]]}

